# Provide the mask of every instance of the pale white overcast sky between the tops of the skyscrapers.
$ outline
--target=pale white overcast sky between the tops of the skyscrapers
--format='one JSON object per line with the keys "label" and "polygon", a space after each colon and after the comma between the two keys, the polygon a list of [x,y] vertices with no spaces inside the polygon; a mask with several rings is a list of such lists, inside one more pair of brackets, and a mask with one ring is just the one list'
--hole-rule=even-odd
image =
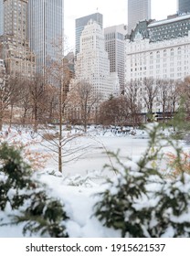
{"label": "pale white overcast sky between the tops of the skyscrapers", "polygon": [[[176,13],[177,0],[152,0],[152,18],[164,19]],[[127,0],[65,0],[65,35],[69,47],[75,45],[75,19],[97,11],[103,15],[103,26],[127,24]]]}

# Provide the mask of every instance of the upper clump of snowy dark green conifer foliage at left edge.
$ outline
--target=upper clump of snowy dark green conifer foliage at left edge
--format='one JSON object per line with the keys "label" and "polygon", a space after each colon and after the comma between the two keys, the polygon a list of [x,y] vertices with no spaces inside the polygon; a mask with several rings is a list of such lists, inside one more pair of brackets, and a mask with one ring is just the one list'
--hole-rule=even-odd
{"label": "upper clump of snowy dark green conifer foliage at left edge", "polygon": [[2,144],[0,148],[0,160],[0,209],[4,210],[7,202],[11,208],[19,208],[29,197],[19,192],[34,186],[30,179],[30,167],[23,161],[20,152],[7,144]]}

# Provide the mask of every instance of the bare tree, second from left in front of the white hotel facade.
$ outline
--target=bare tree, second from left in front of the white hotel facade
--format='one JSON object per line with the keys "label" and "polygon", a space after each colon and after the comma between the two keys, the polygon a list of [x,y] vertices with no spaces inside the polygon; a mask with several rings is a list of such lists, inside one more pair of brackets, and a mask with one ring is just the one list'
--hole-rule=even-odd
{"label": "bare tree, second from left in front of the white hotel facade", "polygon": [[143,100],[146,104],[148,113],[153,113],[153,103],[158,93],[158,86],[153,78],[144,78],[142,80]]}

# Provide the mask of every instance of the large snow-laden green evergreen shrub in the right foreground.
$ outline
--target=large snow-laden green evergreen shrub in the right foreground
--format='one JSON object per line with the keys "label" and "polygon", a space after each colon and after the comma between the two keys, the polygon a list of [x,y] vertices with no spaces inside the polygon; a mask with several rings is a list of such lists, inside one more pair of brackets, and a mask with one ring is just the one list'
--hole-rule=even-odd
{"label": "large snow-laden green evergreen shrub in the right foreground", "polygon": [[170,138],[164,141],[158,125],[149,125],[147,130],[149,144],[137,163],[130,159],[121,163],[115,155],[120,168],[114,171],[119,175],[100,193],[94,214],[104,226],[120,229],[121,237],[189,237],[190,177],[164,179],[159,164],[164,145],[170,144],[181,168],[180,148]]}

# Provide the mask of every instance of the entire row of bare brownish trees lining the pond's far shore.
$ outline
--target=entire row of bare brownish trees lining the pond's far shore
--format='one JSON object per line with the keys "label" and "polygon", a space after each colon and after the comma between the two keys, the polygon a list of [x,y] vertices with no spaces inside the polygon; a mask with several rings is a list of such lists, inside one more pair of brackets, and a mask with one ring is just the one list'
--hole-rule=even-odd
{"label": "entire row of bare brownish trees lining the pond's far shore", "polygon": [[78,123],[86,130],[88,123],[135,126],[142,123],[142,112],[162,112],[165,120],[177,111],[181,99],[190,113],[190,77],[185,80],[132,80],[119,96],[94,93],[90,83],[79,81],[69,89],[71,74],[66,60],[52,63],[51,81],[36,75],[0,73],[0,130],[3,123]]}

